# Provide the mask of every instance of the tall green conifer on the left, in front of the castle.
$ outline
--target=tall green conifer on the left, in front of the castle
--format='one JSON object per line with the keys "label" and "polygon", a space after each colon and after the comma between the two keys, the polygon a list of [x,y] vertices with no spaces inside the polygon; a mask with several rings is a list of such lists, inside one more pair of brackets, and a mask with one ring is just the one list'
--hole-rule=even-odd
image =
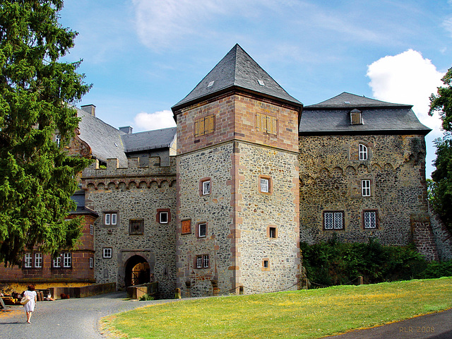
{"label": "tall green conifer on the left, in front of the castle", "polygon": [[[64,152],[78,126],[71,106],[90,89],[60,62],[76,32],[58,23],[61,0],[0,0],[0,263],[21,265],[24,249],[73,247],[81,220],[76,176],[89,160]],[[54,142],[54,133],[61,143]]]}

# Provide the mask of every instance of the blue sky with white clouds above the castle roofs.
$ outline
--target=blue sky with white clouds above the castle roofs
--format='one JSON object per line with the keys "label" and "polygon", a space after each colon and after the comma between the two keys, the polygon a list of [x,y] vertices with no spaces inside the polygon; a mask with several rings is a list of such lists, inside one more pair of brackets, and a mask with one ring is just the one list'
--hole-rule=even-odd
{"label": "blue sky with white clouds above the castle roofs", "polygon": [[80,105],[133,131],[174,126],[182,100],[238,43],[304,105],[342,92],[414,105],[427,136],[429,95],[452,66],[452,0],[66,0],[76,30],[64,60],[93,83]]}

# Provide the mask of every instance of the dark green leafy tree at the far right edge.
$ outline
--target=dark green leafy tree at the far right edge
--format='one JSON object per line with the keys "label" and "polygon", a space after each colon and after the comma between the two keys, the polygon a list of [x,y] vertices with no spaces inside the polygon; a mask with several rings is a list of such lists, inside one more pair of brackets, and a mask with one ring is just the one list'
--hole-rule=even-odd
{"label": "dark green leafy tree at the far right edge", "polygon": [[436,169],[432,173],[430,201],[452,232],[452,68],[441,81],[444,86],[438,88],[438,95],[430,96],[429,114],[439,112],[445,131],[443,138],[435,140]]}

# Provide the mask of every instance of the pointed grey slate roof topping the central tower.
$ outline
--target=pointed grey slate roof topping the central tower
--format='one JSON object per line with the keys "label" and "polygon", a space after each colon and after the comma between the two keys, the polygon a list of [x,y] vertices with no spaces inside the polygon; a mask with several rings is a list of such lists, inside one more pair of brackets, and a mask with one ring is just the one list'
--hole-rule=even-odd
{"label": "pointed grey slate roof topping the central tower", "polygon": [[229,90],[239,89],[302,107],[247,54],[239,44],[201,80],[189,95],[172,107],[172,111],[206,100]]}

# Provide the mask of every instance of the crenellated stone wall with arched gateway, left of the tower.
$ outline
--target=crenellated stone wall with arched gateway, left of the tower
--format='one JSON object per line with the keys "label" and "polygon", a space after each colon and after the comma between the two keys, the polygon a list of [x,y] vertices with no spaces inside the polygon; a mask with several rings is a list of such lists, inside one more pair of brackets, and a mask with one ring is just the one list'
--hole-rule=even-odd
{"label": "crenellated stone wall with arched gateway, left of the tower", "polygon": [[[95,222],[95,279],[97,283],[126,283],[126,265],[141,257],[149,263],[150,280],[157,281],[160,295],[174,296],[176,230],[176,162],[160,167],[158,158],[150,166],[139,167],[129,159],[129,167],[119,168],[116,159],[107,168],[92,167],[83,172],[85,205],[100,217]],[[169,212],[167,223],[160,223],[159,210]],[[117,225],[106,225],[105,213],[117,213]],[[143,231],[130,232],[131,220],[141,220]],[[103,249],[112,249],[104,258]]]}

